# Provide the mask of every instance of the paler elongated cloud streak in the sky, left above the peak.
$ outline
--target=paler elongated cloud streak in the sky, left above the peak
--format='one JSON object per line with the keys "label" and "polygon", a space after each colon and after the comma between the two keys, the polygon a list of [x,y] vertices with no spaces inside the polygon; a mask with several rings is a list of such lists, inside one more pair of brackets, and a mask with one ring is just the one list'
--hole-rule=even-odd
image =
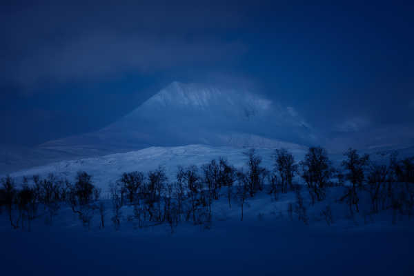
{"label": "paler elongated cloud streak in the sky, left above the peak", "polygon": [[228,61],[245,51],[237,42],[120,37],[101,32],[86,34],[64,46],[39,49],[18,63],[14,77],[29,86],[43,79],[94,79],[126,71],[143,73]]}

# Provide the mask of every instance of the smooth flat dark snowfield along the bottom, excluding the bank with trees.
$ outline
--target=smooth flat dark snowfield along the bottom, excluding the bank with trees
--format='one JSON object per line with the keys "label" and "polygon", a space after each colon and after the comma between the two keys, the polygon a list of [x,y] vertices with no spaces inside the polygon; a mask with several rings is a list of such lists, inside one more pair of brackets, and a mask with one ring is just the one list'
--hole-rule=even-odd
{"label": "smooth flat dark snowfield along the bottom, excluding the bank with trees", "polygon": [[339,233],[233,221],[172,237],[55,229],[4,234],[2,275],[412,275],[414,268],[408,229]]}

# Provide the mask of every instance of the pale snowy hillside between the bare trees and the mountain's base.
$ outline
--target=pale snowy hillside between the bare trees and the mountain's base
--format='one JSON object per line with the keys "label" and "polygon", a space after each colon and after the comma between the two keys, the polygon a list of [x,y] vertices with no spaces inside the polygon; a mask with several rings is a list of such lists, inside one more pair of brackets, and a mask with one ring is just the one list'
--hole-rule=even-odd
{"label": "pale snowy hillside between the bare trees and the mountain's base", "polygon": [[[304,156],[306,148],[293,148],[291,151],[296,159],[299,160]],[[32,177],[32,175],[47,176],[50,172],[53,172],[61,178],[72,181],[76,173],[79,170],[83,170],[92,175],[94,184],[105,192],[110,183],[119,179],[122,172],[132,172],[135,170],[147,172],[162,166],[166,169],[167,176],[171,181],[174,181],[178,166],[201,166],[208,163],[211,159],[219,157],[225,157],[230,164],[241,168],[246,164],[247,160],[243,152],[246,152],[245,148],[205,145],[150,147],[102,157],[59,161],[46,166],[13,172],[11,176],[20,179],[23,176]],[[257,153],[262,156],[264,165],[269,169],[272,168],[273,149],[262,148],[258,149]]]}

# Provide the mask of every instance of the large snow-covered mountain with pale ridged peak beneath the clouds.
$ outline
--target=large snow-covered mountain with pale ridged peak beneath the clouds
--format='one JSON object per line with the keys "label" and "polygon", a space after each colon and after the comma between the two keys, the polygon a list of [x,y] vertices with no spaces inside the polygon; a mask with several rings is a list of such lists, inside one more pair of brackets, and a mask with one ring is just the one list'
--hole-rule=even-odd
{"label": "large snow-covered mountain with pale ridged peak beneath the clouds", "polygon": [[12,171],[150,146],[303,148],[315,144],[315,133],[294,108],[248,90],[173,82],[99,131],[26,150],[24,162],[20,155],[13,159],[12,152],[1,162]]}

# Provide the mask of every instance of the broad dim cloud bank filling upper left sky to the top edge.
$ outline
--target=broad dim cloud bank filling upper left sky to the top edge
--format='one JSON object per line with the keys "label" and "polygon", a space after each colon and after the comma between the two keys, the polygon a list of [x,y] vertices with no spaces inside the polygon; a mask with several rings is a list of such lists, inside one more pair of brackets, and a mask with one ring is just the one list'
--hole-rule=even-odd
{"label": "broad dim cloud bank filling upper left sky to the top edge", "polygon": [[107,78],[231,62],[246,53],[220,34],[240,26],[237,6],[191,1],[39,1],[0,12],[0,78],[38,83]]}

